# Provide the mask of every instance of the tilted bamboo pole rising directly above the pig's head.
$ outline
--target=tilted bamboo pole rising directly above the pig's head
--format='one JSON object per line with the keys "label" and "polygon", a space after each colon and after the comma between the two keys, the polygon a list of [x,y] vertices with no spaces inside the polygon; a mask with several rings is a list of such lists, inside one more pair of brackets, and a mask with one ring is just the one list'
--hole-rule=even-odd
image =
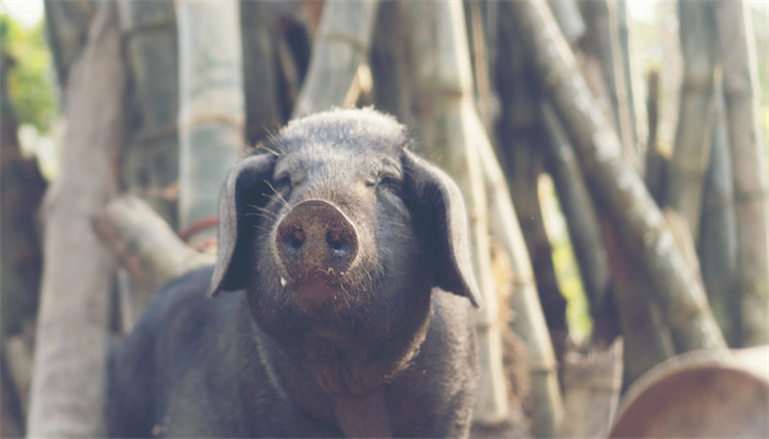
{"label": "tilted bamboo pole rising directly above the pig's head", "polygon": [[352,86],[368,56],[377,7],[377,0],[326,1],[293,117],[355,104],[359,90]]}

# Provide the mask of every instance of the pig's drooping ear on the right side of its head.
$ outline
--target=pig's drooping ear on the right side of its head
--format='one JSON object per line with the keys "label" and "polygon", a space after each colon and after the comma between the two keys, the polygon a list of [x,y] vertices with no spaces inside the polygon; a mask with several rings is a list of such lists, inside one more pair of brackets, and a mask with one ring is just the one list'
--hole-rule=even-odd
{"label": "pig's drooping ear on the right side of its head", "polygon": [[403,151],[404,182],[412,215],[435,261],[435,284],[467,296],[480,306],[478,282],[472,272],[467,213],[457,184],[437,167],[410,150]]}

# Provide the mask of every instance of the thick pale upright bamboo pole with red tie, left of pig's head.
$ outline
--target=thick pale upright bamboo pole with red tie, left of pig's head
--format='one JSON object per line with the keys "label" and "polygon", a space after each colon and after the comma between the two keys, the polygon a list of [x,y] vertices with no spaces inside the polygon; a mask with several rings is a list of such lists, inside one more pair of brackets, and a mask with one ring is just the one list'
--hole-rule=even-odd
{"label": "thick pale upright bamboo pole with red tie, left of pig's head", "polygon": [[179,31],[179,229],[212,248],[219,192],[244,151],[236,0],[176,2]]}

